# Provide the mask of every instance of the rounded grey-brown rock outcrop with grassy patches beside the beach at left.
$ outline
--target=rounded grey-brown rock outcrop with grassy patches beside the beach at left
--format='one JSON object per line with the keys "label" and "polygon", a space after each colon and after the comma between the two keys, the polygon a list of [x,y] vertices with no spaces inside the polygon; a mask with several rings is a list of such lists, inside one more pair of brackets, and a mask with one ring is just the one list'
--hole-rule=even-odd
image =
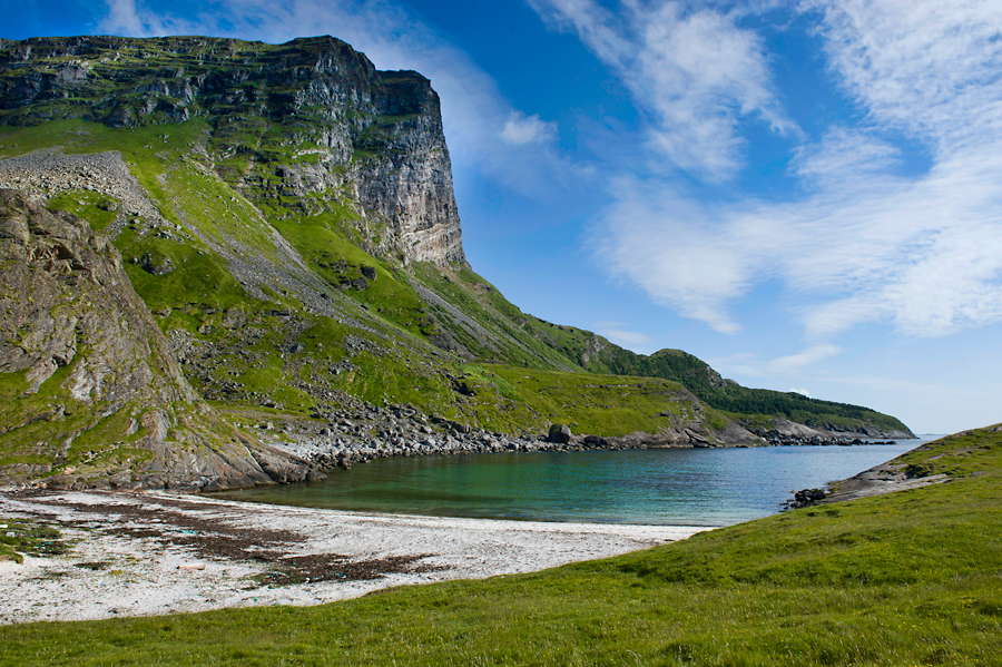
{"label": "rounded grey-brown rock outcrop with grassy patches beside the beach at left", "polygon": [[0,454],[14,461],[0,481],[219,488],[311,474],[199,401],[106,238],[17,190],[0,190]]}

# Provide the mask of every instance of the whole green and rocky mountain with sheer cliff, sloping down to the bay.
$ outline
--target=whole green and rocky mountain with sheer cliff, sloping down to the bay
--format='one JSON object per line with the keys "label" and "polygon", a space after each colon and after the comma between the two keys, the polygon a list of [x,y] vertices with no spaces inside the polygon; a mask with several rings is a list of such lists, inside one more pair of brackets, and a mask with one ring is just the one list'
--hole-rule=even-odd
{"label": "whole green and rocky mountain with sheer cliff, sloping down to the bay", "polygon": [[[334,38],[0,40],[0,479],[217,488],[386,453],[911,437],[522,313],[463,254],[431,82]],[[577,435],[544,444],[551,424]]]}

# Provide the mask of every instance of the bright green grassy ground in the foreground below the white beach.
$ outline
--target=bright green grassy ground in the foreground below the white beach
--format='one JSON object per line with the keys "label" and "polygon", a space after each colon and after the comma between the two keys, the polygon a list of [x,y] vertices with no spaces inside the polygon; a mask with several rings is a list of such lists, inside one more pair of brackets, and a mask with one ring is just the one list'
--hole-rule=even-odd
{"label": "bright green grassy ground in the foreground below the white beach", "polygon": [[548,570],[313,608],[0,628],[11,665],[999,665],[1002,429],[953,481]]}

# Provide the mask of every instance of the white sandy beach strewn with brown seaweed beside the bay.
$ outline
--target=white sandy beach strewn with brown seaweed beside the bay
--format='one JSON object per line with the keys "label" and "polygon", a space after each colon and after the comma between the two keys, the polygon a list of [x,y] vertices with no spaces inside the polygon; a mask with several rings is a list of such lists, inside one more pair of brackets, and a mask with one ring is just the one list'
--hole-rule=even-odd
{"label": "white sandy beach strewn with brown seaweed beside the bay", "polygon": [[0,492],[62,556],[0,562],[0,624],[318,605],[391,586],[530,572],[685,539],[695,527],[493,521],[198,496]]}

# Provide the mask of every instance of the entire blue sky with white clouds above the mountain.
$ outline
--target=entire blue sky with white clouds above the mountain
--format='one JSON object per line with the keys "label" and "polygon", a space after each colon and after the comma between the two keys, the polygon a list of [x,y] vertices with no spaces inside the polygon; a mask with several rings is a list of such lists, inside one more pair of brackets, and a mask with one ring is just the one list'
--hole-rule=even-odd
{"label": "entire blue sky with white clouds above the mountain", "polygon": [[442,99],[514,304],[916,433],[1002,421],[995,0],[7,0],[0,37],[332,35]]}

